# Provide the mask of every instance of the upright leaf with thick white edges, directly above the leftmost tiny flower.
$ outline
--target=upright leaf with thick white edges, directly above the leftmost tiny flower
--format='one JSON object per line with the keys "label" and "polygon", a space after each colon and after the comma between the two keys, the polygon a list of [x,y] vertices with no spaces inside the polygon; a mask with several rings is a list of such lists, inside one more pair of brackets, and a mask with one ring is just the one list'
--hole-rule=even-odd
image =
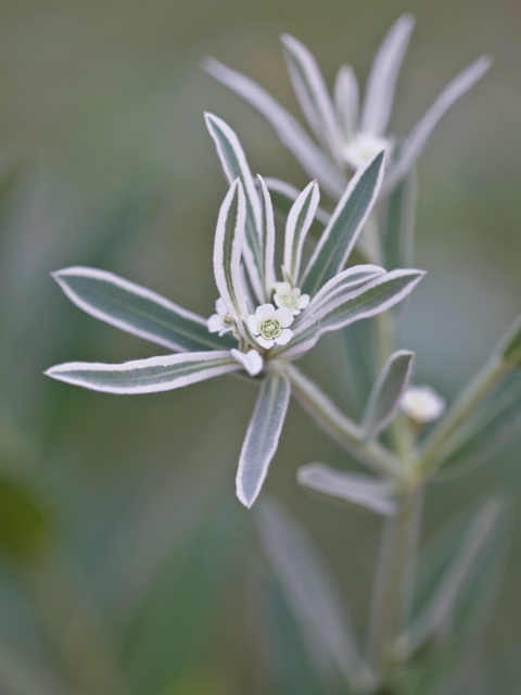
{"label": "upright leaf with thick white edges, directly above the leftmost tiny flower", "polygon": [[228,313],[236,317],[249,313],[241,274],[245,217],[244,192],[237,178],[220,206],[214,243],[215,283]]}

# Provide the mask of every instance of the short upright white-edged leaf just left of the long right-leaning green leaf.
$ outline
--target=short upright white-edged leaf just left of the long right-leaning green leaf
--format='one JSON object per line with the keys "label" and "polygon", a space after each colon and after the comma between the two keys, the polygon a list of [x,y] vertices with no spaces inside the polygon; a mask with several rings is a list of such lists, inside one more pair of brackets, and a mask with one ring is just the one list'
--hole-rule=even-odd
{"label": "short upright white-edged leaf just left of the long right-leaning green leaf", "polygon": [[319,200],[320,191],[315,180],[308,184],[297,197],[288,215],[284,236],[284,268],[294,286],[298,285],[302,250],[315,218]]}

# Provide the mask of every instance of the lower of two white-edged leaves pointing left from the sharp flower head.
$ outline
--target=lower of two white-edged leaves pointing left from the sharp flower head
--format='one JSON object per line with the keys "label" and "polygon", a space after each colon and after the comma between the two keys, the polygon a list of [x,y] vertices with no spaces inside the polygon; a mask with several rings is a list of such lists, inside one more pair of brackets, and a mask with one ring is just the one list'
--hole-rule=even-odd
{"label": "lower of two white-edged leaves pointing left from the sharp flower head", "polygon": [[239,371],[230,351],[191,352],[132,359],[120,365],[67,362],[51,367],[48,377],[105,393],[157,393]]}

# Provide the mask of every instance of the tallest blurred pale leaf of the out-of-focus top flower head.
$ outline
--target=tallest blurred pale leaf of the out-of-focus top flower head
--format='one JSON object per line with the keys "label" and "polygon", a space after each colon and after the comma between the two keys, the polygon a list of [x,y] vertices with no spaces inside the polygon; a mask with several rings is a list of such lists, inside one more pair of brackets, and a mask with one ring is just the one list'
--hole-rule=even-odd
{"label": "tallest blurred pale leaf of the out-of-focus top flower head", "polygon": [[374,56],[361,113],[360,130],[363,132],[385,135],[393,108],[396,80],[414,26],[414,17],[410,14],[403,14],[390,28]]}

